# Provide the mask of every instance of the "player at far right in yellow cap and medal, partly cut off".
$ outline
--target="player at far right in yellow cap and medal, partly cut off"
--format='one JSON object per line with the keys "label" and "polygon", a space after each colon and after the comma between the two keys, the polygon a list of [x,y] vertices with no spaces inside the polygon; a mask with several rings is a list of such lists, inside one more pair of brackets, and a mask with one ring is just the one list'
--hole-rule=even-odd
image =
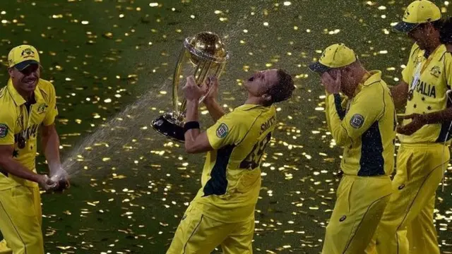
{"label": "player at far right in yellow cap and medal, partly cut off", "polygon": [[391,89],[396,107],[405,107],[398,127],[400,149],[393,195],[376,233],[379,254],[439,253],[433,223],[435,193],[450,153],[447,91],[452,58],[440,42],[441,11],[431,1],[413,1],[394,28],[415,44],[399,85]]}

